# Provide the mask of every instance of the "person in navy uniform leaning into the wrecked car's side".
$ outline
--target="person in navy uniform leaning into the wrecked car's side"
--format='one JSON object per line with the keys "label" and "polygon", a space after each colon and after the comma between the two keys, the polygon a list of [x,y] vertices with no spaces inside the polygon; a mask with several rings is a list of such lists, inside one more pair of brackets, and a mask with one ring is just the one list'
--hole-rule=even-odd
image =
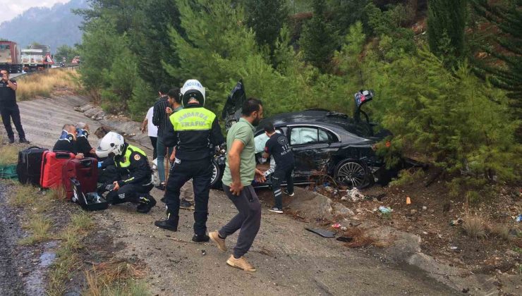
{"label": "person in navy uniform leaning into the wrecked car's side", "polygon": [[274,191],[275,205],[272,209],[269,209],[269,211],[283,214],[281,183],[286,180],[286,190],[284,190],[284,194],[292,197],[292,172],[293,167],[295,166],[295,160],[293,159],[293,153],[290,149],[289,140],[286,139],[286,135],[276,132],[272,123],[265,125],[265,133],[269,139],[265,144],[265,153],[263,153],[263,157],[268,159],[269,156],[272,156],[276,162],[275,171],[272,173],[272,190]]}

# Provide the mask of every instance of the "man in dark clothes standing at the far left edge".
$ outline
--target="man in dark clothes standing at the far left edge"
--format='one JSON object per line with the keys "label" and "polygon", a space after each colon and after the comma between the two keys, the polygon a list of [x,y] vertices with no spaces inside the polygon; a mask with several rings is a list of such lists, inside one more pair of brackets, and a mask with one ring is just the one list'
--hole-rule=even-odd
{"label": "man in dark clothes standing at the far left edge", "polygon": [[15,142],[15,133],[11,128],[11,118],[13,118],[20,143],[29,143],[28,140],[25,140],[25,132],[23,132],[22,122],[20,121],[20,109],[16,104],[16,88],[18,87],[16,80],[9,79],[8,70],[0,70],[0,76],[0,113],[9,142],[11,144]]}

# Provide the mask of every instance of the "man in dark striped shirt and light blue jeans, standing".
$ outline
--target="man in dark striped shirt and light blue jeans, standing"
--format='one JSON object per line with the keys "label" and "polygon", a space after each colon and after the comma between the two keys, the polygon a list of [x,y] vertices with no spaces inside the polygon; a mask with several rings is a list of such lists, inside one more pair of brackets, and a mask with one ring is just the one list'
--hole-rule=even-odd
{"label": "man in dark striped shirt and light blue jeans, standing", "polygon": [[165,189],[165,154],[171,155],[174,151],[174,147],[166,147],[163,143],[163,133],[165,130],[166,122],[169,120],[169,116],[173,113],[171,109],[171,102],[167,93],[169,87],[161,85],[159,87],[159,99],[154,103],[154,111],[152,112],[152,124],[158,127],[158,140],[157,140],[157,164],[158,164],[158,175],[159,175],[159,190]]}

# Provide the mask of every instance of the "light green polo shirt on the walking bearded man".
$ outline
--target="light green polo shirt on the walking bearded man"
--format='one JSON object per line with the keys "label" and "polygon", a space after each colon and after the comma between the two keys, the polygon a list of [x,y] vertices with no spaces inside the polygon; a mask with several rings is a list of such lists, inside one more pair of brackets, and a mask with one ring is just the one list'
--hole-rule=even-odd
{"label": "light green polo shirt on the walking bearded man", "polygon": [[[243,186],[250,185],[255,175],[255,143],[254,143],[254,126],[245,118],[240,118],[237,123],[232,125],[228,135],[226,135],[226,155],[229,155],[232,143],[240,140],[245,144],[241,152],[241,160],[239,164],[239,175],[241,176],[241,184]],[[232,175],[230,174],[229,159],[226,159],[226,167],[221,179],[224,185],[230,186],[232,183]]]}

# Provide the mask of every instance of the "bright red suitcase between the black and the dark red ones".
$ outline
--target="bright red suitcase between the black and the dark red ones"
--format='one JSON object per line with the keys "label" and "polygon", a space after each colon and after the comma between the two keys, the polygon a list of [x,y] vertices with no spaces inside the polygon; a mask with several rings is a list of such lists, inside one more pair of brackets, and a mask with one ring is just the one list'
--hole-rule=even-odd
{"label": "bright red suitcase between the black and the dark red ones", "polygon": [[66,161],[73,159],[71,152],[46,151],[42,155],[42,174],[40,175],[40,185],[43,188],[56,189],[61,186],[61,174]]}

